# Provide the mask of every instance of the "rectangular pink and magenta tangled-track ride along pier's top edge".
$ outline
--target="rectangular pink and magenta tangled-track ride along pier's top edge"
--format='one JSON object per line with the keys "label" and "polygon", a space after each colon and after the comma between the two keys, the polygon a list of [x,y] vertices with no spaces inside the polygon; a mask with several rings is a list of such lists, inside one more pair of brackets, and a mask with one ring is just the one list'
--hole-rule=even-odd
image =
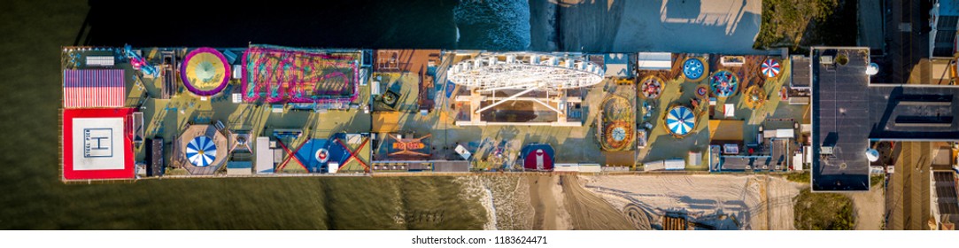
{"label": "rectangular pink and magenta tangled-track ride along pier's top edge", "polygon": [[243,56],[243,99],[269,103],[350,102],[359,96],[359,52],[251,46]]}

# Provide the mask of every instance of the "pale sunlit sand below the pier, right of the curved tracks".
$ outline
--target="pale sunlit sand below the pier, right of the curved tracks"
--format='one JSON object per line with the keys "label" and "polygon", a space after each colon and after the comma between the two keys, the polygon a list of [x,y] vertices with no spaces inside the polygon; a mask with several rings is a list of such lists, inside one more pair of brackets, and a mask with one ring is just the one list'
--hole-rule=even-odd
{"label": "pale sunlit sand below the pier, right of the curved tracks", "polygon": [[[580,176],[614,209],[636,206],[662,226],[667,212],[685,213],[716,229],[793,230],[792,199],[802,184],[765,175]],[[725,216],[722,216],[725,215]],[[732,221],[731,221],[732,220]]]}

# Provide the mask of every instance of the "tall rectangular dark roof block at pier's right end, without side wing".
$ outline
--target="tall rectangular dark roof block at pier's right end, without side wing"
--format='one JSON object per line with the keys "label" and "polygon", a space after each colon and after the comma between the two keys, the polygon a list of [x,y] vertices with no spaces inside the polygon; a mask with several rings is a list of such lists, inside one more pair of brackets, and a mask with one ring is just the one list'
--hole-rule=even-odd
{"label": "tall rectangular dark roof block at pier's right end, without side wing", "polygon": [[[870,112],[866,94],[868,49],[812,50],[812,190],[868,191]],[[849,57],[846,65],[821,64],[822,56]],[[833,147],[831,155],[823,147]],[[818,159],[817,159],[818,158]]]}

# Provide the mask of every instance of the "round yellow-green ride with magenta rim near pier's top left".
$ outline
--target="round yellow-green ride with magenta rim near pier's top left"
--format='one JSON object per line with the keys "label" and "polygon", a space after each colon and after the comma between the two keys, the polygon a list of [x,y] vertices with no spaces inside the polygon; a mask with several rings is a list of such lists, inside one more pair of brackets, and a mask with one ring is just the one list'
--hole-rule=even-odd
{"label": "round yellow-green ride with magenta rim near pier's top left", "polygon": [[213,48],[198,48],[190,51],[180,67],[183,86],[200,97],[213,96],[226,87],[230,77],[230,64],[226,57]]}

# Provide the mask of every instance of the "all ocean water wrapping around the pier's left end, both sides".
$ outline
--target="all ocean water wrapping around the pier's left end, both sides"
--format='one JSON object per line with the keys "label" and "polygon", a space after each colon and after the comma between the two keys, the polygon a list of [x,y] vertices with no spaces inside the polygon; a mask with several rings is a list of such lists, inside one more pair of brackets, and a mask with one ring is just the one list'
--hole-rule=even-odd
{"label": "all ocean water wrapping around the pier's left end, both sides", "polygon": [[[11,93],[0,98],[7,106],[0,108],[4,120],[0,130],[8,141],[0,143],[4,165],[0,229],[459,230],[488,226],[490,217],[482,203],[489,204],[490,199],[461,193],[466,185],[449,177],[60,183],[56,155],[60,46],[244,47],[253,42],[500,50],[522,49],[529,43],[528,25],[526,35],[521,22],[490,26],[496,18],[528,19],[528,13],[526,17],[522,13],[525,1],[476,9],[456,9],[459,3],[451,0],[306,5],[282,0],[198,2],[0,1],[4,34],[0,35],[0,62],[7,65],[0,67],[4,79],[0,90]],[[496,17],[480,18],[485,14]],[[508,213],[501,207],[497,210],[496,215]]]}

